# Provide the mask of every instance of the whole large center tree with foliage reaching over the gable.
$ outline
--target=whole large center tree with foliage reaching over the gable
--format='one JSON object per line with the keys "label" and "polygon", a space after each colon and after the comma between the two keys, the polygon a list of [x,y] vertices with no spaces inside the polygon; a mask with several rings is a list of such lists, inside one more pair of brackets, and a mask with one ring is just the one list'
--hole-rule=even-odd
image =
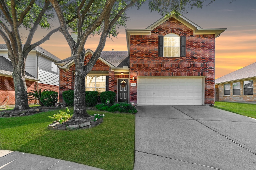
{"label": "whole large center tree with foliage reaching over the gable", "polygon": [[[128,17],[125,11],[130,7],[140,8],[146,0],[70,0],[59,2],[49,0],[54,7],[59,23],[60,32],[65,36],[72,51],[75,62],[74,82],[74,114],[73,120],[83,120],[89,115],[86,112],[85,102],[85,77],[101,55],[106,38],[117,36],[118,26],[125,26]],[[212,3],[210,0],[207,3]],[[201,8],[204,0],[150,0],[149,8],[156,10],[162,15],[179,15],[186,12],[185,7]],[[61,5],[65,4],[65,8]],[[65,21],[74,19],[67,24]],[[72,29],[78,34],[77,43],[69,34]],[[85,49],[87,38],[98,33],[101,35],[98,47],[84,65]]]}

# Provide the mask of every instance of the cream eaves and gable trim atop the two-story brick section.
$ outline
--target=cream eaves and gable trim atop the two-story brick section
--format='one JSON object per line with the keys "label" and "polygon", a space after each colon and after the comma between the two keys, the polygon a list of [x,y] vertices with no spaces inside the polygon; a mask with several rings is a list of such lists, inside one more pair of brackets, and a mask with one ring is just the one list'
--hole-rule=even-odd
{"label": "cream eaves and gable trim atop the two-story brick section", "polygon": [[215,38],[216,38],[216,37],[220,36],[220,34],[222,32],[227,30],[226,28],[203,29],[203,28],[199,27],[197,24],[195,24],[194,22],[192,22],[189,19],[187,19],[186,17],[184,17],[183,15],[180,15],[179,17],[175,17],[174,15],[170,16],[170,17],[164,16],[145,29],[125,29],[128,51],[130,51],[130,35],[150,35],[151,31],[153,29],[155,29],[156,27],[158,27],[159,25],[161,25],[162,23],[164,23],[171,17],[177,19],[178,21],[180,21],[181,23],[186,25],[188,28],[193,30],[194,34],[215,34]]}

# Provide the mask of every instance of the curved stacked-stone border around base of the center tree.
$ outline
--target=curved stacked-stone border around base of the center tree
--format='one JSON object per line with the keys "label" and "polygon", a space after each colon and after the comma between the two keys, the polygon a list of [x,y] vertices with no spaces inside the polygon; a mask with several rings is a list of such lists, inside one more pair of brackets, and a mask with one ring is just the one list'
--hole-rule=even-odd
{"label": "curved stacked-stone border around base of the center tree", "polygon": [[97,121],[88,121],[81,124],[75,124],[75,125],[63,125],[60,124],[59,121],[52,122],[52,124],[48,125],[48,129],[52,130],[77,130],[77,129],[86,129],[86,128],[92,128],[95,126],[100,125],[103,122],[103,118],[98,119]]}

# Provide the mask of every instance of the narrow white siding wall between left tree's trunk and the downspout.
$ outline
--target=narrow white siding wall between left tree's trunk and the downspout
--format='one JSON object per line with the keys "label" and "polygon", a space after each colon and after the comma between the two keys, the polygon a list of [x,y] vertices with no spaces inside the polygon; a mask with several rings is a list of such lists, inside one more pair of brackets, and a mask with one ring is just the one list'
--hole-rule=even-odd
{"label": "narrow white siding wall between left tree's trunk and the downspout", "polygon": [[28,54],[25,71],[37,78],[37,57],[35,52]]}

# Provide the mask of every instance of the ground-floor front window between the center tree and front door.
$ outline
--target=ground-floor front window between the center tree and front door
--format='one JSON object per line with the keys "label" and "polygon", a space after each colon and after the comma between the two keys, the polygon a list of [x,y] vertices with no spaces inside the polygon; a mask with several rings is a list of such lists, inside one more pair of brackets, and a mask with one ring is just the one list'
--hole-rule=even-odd
{"label": "ground-floor front window between the center tree and front door", "polygon": [[86,91],[98,91],[99,95],[102,91],[106,91],[106,76],[86,76]]}

